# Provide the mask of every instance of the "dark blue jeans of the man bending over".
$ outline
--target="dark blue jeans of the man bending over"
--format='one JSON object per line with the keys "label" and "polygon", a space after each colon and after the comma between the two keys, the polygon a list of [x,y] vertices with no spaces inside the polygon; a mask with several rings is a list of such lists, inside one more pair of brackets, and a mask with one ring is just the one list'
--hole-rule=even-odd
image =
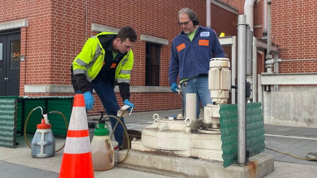
{"label": "dark blue jeans of the man bending over", "polygon": [[[102,79],[101,77],[96,77],[93,81],[89,83],[91,88],[91,92],[93,89],[96,91],[97,95],[99,96],[103,107],[105,108],[108,115],[117,116],[117,112],[120,109],[116,94],[114,92],[113,81],[110,79]],[[79,91],[81,92],[81,91]],[[78,90],[77,90],[78,93]],[[112,129],[114,128],[115,124],[117,123],[117,119],[109,118]],[[124,124],[123,117],[120,119]],[[126,125],[124,124],[126,128]],[[113,130],[113,135],[115,140],[118,142],[119,146],[122,146],[123,141],[123,126],[118,123],[115,130]]]}

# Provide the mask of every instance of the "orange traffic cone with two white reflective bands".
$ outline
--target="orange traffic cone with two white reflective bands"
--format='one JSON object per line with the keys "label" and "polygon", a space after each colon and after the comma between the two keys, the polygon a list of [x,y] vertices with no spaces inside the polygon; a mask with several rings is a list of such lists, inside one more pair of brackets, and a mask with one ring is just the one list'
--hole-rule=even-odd
{"label": "orange traffic cone with two white reflective bands", "polygon": [[59,178],[94,178],[84,95],[76,94]]}

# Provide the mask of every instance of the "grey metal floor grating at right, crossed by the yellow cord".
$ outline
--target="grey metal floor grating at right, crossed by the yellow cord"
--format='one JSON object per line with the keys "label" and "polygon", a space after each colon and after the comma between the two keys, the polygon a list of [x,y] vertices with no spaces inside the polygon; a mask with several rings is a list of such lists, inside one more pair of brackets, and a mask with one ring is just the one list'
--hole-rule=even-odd
{"label": "grey metal floor grating at right, crossed by the yellow cord", "polygon": [[[265,145],[267,148],[290,153],[301,158],[306,158],[307,153],[317,151],[317,140],[273,136],[265,136],[265,138]],[[265,149],[263,153],[272,154],[274,156],[274,161],[317,166],[317,161],[302,160],[269,149]]]}

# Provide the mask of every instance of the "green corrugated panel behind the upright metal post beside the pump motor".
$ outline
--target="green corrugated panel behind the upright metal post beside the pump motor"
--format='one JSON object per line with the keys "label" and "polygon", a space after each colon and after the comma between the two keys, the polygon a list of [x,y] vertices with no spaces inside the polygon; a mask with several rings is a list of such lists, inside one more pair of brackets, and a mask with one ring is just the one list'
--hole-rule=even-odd
{"label": "green corrugated panel behind the upright metal post beside the pump motor", "polygon": [[[221,149],[223,151],[223,167],[237,162],[238,158],[238,108],[237,104],[220,105]],[[246,105],[246,150],[250,156],[264,151],[264,123],[261,103]]]}

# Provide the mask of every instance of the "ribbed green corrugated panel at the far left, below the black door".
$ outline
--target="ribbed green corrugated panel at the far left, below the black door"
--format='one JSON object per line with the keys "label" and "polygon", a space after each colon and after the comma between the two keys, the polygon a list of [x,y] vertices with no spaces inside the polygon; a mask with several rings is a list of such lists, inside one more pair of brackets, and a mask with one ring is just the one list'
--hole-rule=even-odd
{"label": "ribbed green corrugated panel at the far left, below the black door", "polygon": [[15,148],[15,98],[0,98],[0,146]]}

